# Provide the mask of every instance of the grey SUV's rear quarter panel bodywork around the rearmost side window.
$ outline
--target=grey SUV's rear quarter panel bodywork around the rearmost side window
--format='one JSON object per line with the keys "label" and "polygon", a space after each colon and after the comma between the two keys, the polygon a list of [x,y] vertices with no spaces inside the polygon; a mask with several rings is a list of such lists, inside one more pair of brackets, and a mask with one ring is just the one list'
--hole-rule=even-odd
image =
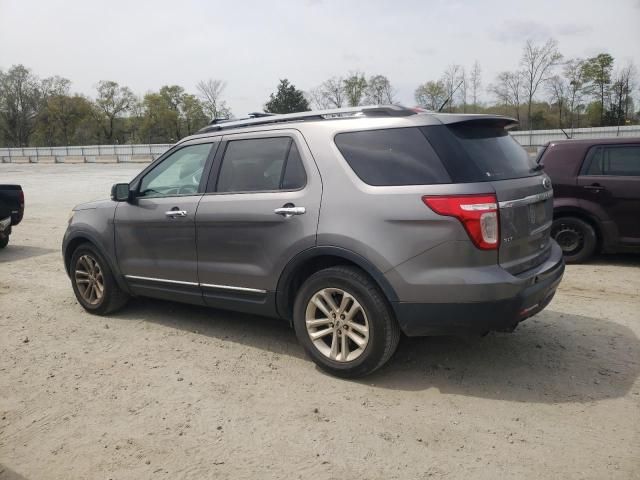
{"label": "grey SUV's rear quarter panel bodywork around the rearmost side window", "polygon": [[[375,128],[375,120],[358,129]],[[347,122],[345,122],[346,124]],[[377,128],[407,125],[389,120]],[[352,131],[345,125],[344,130]],[[460,222],[437,215],[423,195],[492,193],[491,184],[371,186],[358,178],[334,142],[335,127],[314,125],[304,132],[322,175],[323,195],[318,246],[338,246],[367,259],[385,273],[408,259],[446,242],[471,244]],[[495,264],[497,253],[476,250],[481,264]],[[474,253],[476,253],[474,252]],[[469,259],[466,259],[469,261]]]}

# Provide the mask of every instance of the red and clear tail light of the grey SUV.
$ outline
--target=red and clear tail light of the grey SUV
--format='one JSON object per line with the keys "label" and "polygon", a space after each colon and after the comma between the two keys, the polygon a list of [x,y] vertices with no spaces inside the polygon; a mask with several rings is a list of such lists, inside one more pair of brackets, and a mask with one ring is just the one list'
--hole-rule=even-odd
{"label": "red and clear tail light of the grey SUV", "polygon": [[500,220],[495,195],[427,195],[422,201],[438,215],[460,220],[476,247],[482,250],[498,248]]}

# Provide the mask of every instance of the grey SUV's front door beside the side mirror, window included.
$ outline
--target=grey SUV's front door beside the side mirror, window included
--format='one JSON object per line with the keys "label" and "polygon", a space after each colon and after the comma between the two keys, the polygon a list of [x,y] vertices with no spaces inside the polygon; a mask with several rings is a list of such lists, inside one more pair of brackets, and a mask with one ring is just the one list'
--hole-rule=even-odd
{"label": "grey SUV's front door beside the side mirror, window included", "polygon": [[212,145],[208,140],[170,152],[135,181],[135,199],[118,205],[116,255],[134,293],[203,303],[195,217]]}

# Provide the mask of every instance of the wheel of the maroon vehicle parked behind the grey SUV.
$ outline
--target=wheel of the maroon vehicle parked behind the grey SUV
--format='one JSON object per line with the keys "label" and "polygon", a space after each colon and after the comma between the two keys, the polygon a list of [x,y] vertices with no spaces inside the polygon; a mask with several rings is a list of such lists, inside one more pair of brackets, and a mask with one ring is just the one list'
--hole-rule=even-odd
{"label": "wheel of the maroon vehicle parked behind the grey SUV", "polygon": [[593,227],[576,217],[560,217],[554,220],[551,236],[562,248],[567,263],[582,263],[589,259],[598,243]]}

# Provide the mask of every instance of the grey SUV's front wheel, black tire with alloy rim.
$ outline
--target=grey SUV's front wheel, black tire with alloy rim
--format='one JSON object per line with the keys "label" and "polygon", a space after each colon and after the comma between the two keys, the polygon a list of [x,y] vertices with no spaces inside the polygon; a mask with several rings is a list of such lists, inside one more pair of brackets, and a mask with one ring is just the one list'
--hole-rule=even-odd
{"label": "grey SUV's front wheel, black tire with alloy rim", "polygon": [[[97,265],[97,270],[94,263]],[[89,313],[107,315],[122,308],[129,295],[117,284],[109,264],[90,243],[83,243],[71,255],[71,284],[78,303]],[[79,273],[84,272],[84,273]],[[98,298],[99,285],[90,293],[87,288],[91,282],[101,284],[102,295]]]}

